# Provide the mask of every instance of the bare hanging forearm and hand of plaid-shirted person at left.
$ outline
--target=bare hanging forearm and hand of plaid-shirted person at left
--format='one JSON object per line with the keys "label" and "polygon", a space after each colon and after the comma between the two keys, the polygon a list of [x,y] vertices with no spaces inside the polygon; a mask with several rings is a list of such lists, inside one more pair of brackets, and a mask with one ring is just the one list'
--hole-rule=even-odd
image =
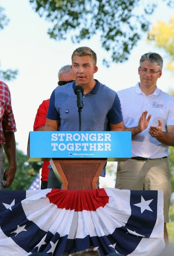
{"label": "bare hanging forearm and hand of plaid-shirted person at left", "polygon": [[5,188],[7,188],[13,182],[16,173],[16,143],[13,132],[4,132],[4,136],[6,139],[4,151],[9,163],[9,166],[4,173],[4,180],[6,180]]}

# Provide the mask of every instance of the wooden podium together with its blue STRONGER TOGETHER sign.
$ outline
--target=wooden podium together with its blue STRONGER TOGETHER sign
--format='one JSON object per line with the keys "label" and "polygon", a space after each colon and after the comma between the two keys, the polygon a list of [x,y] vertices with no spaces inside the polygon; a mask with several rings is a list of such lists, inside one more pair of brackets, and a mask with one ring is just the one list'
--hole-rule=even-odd
{"label": "wooden podium together with its blue STRONGER TOGETHER sign", "polygon": [[131,132],[30,132],[28,161],[50,161],[63,189],[96,189],[106,161],[131,157]]}

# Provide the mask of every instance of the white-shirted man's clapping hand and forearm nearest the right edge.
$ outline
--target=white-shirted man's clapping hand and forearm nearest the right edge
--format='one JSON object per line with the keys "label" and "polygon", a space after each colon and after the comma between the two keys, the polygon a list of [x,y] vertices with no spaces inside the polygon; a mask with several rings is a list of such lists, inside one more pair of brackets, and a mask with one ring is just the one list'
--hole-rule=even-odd
{"label": "white-shirted man's clapping hand and forearm nearest the right edge", "polygon": [[162,122],[159,119],[158,126],[150,126],[149,134],[164,145],[174,146],[174,125],[168,125],[167,132],[163,132]]}

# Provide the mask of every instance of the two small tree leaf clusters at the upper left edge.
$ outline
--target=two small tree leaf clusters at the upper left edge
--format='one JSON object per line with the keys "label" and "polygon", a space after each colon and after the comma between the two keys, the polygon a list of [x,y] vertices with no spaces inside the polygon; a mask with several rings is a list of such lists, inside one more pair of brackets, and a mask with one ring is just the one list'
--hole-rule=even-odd
{"label": "two small tree leaf clusters at the upper left edge", "polygon": [[[0,31],[4,29],[9,23],[9,19],[4,14],[4,8],[0,6]],[[1,65],[0,65],[1,67]],[[0,79],[3,81],[9,81],[16,78],[18,71],[17,70],[0,70]]]}

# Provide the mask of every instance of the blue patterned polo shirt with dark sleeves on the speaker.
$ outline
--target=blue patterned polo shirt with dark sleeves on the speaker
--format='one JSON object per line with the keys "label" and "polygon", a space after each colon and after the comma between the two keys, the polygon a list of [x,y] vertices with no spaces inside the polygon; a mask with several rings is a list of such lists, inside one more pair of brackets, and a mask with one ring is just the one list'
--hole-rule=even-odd
{"label": "blue patterned polo shirt with dark sleeves on the speaker", "polygon": [[[107,131],[108,123],[120,123],[122,118],[118,95],[96,80],[95,88],[83,95],[81,131]],[[47,117],[60,120],[59,131],[79,131],[75,81],[57,87],[50,98]]]}

